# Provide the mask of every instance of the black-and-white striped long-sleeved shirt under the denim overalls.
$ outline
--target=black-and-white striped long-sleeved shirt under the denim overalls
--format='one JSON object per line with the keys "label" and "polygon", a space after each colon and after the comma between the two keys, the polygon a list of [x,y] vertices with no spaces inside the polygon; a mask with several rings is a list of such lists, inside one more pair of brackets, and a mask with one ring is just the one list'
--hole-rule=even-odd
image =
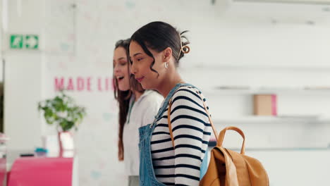
{"label": "black-and-white striped long-sleeved shirt under the denim overalls", "polygon": [[165,185],[199,185],[200,166],[212,128],[202,103],[206,99],[203,95],[200,99],[197,92],[194,87],[180,87],[173,94],[171,127],[175,149],[167,121],[169,106],[152,133],[154,173]]}

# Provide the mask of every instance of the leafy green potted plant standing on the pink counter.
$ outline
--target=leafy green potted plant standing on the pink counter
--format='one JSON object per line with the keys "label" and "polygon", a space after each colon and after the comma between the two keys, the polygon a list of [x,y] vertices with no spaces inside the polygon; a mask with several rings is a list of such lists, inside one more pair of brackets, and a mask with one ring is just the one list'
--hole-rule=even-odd
{"label": "leafy green potted plant standing on the pink counter", "polygon": [[78,130],[78,125],[86,116],[85,108],[76,105],[73,98],[61,90],[53,99],[40,101],[38,110],[44,114],[44,119],[49,125],[56,125],[60,152],[63,152],[63,149],[65,149],[63,148],[63,136],[71,136],[69,130],[72,128]]}

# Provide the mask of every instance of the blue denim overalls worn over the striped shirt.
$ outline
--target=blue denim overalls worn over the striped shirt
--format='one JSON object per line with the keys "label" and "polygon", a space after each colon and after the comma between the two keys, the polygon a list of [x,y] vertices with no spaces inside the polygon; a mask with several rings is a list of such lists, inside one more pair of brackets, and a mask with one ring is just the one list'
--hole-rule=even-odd
{"label": "blue denim overalls worn over the striped shirt", "polygon": [[[176,92],[176,89],[183,86],[191,86],[190,84],[177,84],[176,87],[171,89],[169,95],[164,100],[163,105],[159,109],[157,116],[154,118],[154,122],[149,125],[145,125],[139,128],[139,135],[140,135],[140,186],[164,186],[164,183],[159,182],[154,174],[154,168],[152,166],[152,155],[151,155],[151,137],[152,132],[154,131],[155,126],[157,125],[157,121],[161,118],[164,111],[166,110],[167,106],[169,105],[169,100]],[[195,87],[194,87],[195,88]],[[200,167],[200,180],[205,175],[207,171],[207,151],[205,152],[204,159],[202,161],[202,165]]]}

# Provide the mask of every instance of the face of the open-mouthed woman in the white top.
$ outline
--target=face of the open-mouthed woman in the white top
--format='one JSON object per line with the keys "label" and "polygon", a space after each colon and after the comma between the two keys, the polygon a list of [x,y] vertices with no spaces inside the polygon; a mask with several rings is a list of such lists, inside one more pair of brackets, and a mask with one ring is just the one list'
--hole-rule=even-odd
{"label": "face of the open-mouthed woman in the white top", "polygon": [[121,46],[114,51],[114,77],[118,82],[119,90],[126,91],[130,89],[128,58],[126,56],[126,49]]}

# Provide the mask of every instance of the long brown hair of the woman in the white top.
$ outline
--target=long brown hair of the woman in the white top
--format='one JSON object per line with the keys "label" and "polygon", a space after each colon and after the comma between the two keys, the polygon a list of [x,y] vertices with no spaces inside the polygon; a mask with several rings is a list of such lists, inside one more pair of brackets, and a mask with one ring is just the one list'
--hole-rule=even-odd
{"label": "long brown hair of the woman in the white top", "polygon": [[[130,39],[125,39],[125,40],[119,40],[118,42],[116,42],[115,44],[115,49],[117,49],[118,47],[123,47],[126,50],[126,57],[127,57],[127,61],[129,60],[130,56],[128,53],[128,46],[130,44]],[[127,63],[127,70],[129,70],[129,63]],[[129,72],[129,71],[128,71]],[[127,91],[121,91],[120,89],[118,89],[118,80],[116,77],[114,77],[114,73],[113,73],[113,78],[114,78],[114,97],[115,99],[118,101],[119,104],[119,118],[118,118],[118,122],[119,122],[119,130],[118,130],[118,149],[121,149],[123,151],[123,127],[126,123],[126,118],[128,115],[128,107],[130,104],[130,97],[132,96],[132,90],[129,89]],[[130,81],[130,87],[138,92],[145,92],[145,89],[142,88],[141,84],[135,80],[133,75],[130,75],[129,78]]]}

